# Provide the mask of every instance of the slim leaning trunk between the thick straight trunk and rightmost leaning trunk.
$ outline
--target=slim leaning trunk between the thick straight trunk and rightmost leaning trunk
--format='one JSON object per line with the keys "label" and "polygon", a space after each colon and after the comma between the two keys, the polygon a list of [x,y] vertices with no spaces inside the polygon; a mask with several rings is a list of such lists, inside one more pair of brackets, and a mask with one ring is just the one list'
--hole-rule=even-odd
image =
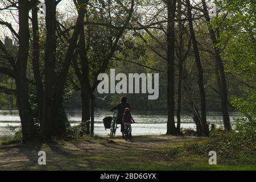
{"label": "slim leaning trunk between the thick straight trunk and rightmost leaning trunk", "polygon": [[195,61],[198,71],[198,85],[200,91],[200,103],[201,103],[201,128],[202,128],[202,135],[209,136],[209,127],[207,125],[207,117],[206,117],[206,97],[205,97],[205,90],[204,90],[204,75],[203,75],[203,67],[201,65],[199,49],[197,47],[196,36],[193,29],[193,22],[192,22],[192,14],[191,14],[191,5],[190,1],[186,0],[187,4],[187,12],[188,12],[188,23],[189,23],[189,32],[191,35],[191,40],[193,43],[193,50],[195,53]]}

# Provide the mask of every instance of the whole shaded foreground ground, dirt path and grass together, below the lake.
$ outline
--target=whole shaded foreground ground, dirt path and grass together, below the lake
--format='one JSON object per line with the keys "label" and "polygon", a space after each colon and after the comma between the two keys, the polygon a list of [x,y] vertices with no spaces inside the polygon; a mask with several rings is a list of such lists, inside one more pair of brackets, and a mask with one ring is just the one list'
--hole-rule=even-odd
{"label": "whole shaded foreground ground, dirt path and grass together, below the lake", "polygon": [[[133,142],[120,137],[86,137],[51,143],[15,143],[0,146],[0,170],[256,170],[255,156],[236,159],[179,154],[184,144],[200,143],[203,137],[167,135],[135,136]],[[46,165],[38,164],[38,152],[46,152]]]}

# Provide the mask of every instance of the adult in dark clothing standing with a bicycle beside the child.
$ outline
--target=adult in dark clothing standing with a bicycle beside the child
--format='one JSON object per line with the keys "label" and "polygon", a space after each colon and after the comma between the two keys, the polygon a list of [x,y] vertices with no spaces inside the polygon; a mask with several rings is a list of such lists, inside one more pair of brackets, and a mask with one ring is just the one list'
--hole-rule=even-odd
{"label": "adult in dark clothing standing with a bicycle beside the child", "polygon": [[125,126],[123,125],[123,122],[122,122],[123,113],[125,113],[125,108],[126,107],[131,109],[131,106],[126,101],[127,101],[127,98],[122,97],[121,98],[121,103],[117,104],[112,109],[110,109],[110,111],[118,110],[117,111],[117,124],[121,125],[121,132],[122,132],[122,137],[123,138],[125,138]]}

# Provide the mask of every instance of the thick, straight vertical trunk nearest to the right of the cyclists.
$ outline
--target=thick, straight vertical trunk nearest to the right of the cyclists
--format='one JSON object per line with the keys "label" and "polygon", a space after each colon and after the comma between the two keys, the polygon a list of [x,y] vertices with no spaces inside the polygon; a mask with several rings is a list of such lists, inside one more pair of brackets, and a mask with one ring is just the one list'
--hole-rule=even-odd
{"label": "thick, straight vertical trunk nearest to the right of the cyclists", "polygon": [[175,82],[174,82],[174,59],[175,59],[175,10],[176,0],[167,1],[168,9],[168,24],[167,24],[167,72],[168,72],[168,86],[167,86],[167,133],[176,134],[175,127]]}

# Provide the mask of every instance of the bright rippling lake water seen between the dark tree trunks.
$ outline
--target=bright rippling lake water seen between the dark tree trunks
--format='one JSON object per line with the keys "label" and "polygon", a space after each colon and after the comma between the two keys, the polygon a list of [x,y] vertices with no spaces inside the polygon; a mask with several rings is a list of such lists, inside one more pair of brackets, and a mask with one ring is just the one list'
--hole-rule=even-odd
{"label": "bright rippling lake water seen between the dark tree trunks", "polygon": [[[81,122],[81,110],[67,111],[71,125],[78,125]],[[96,109],[94,133],[100,136],[108,136],[109,129],[105,130],[102,119],[107,116],[112,116],[113,113],[108,110]],[[133,124],[134,135],[160,135],[166,133],[167,112],[166,111],[133,111],[132,113],[137,123]],[[240,113],[230,113],[230,120],[241,117]],[[175,118],[176,119],[176,118]],[[207,114],[209,123],[215,123],[217,126],[222,126],[221,113],[210,112]],[[20,118],[16,110],[0,110],[0,136],[13,135],[7,126],[20,126]],[[181,115],[181,127],[195,129],[196,125],[193,122],[191,113]],[[120,127],[116,135],[121,135]]]}

